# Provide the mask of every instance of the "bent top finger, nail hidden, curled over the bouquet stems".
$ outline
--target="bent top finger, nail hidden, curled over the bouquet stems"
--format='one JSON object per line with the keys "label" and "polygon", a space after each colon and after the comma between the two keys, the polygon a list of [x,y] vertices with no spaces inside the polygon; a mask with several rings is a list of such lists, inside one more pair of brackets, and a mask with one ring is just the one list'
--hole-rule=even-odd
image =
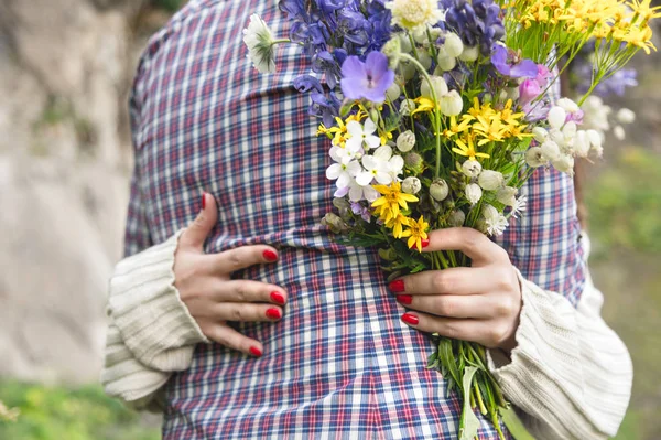
{"label": "bent top finger, nail hidden, curled over the bouquet stems", "polygon": [[[430,244],[424,253],[435,250],[460,250],[475,261],[492,261],[507,253],[483,233],[469,227],[451,227],[429,233]],[[509,257],[507,257],[509,258]]]}

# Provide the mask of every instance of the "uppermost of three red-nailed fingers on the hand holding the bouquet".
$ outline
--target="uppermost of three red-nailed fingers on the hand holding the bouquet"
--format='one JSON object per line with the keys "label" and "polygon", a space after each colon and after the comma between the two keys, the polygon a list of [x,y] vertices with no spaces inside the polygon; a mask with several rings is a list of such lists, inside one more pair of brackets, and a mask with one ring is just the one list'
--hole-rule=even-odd
{"label": "uppermost of three red-nailed fingers on the hand holding the bouquet", "polygon": [[488,292],[491,285],[487,269],[453,267],[408,275],[390,282],[388,287],[394,293],[477,294]]}

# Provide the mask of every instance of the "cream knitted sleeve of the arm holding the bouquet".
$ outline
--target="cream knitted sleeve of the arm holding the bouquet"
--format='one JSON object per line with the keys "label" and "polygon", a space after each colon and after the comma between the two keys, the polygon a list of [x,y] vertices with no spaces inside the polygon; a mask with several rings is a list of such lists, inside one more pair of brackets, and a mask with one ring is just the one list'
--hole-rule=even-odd
{"label": "cream knitted sleeve of the arm holding the bouquet", "polygon": [[508,358],[489,367],[538,440],[607,439],[625,417],[633,377],[625,344],[600,318],[602,293],[589,276],[577,308],[519,273],[523,308]]}

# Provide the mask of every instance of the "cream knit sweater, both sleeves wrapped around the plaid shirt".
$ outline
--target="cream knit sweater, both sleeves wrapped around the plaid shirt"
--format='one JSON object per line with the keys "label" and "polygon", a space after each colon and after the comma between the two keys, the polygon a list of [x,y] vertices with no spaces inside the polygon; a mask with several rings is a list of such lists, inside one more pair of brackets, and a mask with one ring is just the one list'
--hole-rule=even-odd
{"label": "cream knit sweater, both sleeves wrapped around the plaid shirt", "polygon": [[[174,287],[181,233],[120,261],[110,280],[101,382],[106,393],[134,408],[159,409],[159,391],[170,375],[189,366],[196,344],[208,343]],[[626,346],[599,316],[602,293],[588,278],[574,308],[519,277],[518,346],[510,358],[488,353],[505,395],[539,440],[615,436],[633,374]]]}

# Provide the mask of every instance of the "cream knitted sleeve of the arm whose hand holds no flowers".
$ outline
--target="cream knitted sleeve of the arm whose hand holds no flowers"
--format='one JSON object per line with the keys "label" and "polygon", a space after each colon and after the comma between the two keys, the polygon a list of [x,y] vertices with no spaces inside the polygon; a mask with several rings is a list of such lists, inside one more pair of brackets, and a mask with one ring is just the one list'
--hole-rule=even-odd
{"label": "cream knitted sleeve of the arm whose hand holds no flowers", "polygon": [[161,387],[173,372],[188,368],[197,343],[208,342],[174,287],[182,232],[124,258],[110,279],[101,383],[138,409],[158,409]]}

